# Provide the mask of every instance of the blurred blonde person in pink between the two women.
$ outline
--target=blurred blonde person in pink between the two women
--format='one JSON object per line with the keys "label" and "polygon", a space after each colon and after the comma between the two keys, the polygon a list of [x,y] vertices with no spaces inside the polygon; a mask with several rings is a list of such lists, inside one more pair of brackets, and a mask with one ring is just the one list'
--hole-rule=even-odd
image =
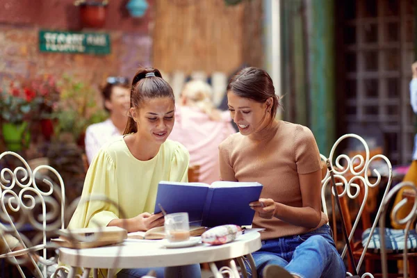
{"label": "blurred blonde person in pink between the two women", "polygon": [[212,89],[204,81],[190,81],[181,92],[170,139],[181,142],[190,152],[190,165],[199,165],[199,181],[220,179],[218,147],[231,133],[229,112],[213,107]]}

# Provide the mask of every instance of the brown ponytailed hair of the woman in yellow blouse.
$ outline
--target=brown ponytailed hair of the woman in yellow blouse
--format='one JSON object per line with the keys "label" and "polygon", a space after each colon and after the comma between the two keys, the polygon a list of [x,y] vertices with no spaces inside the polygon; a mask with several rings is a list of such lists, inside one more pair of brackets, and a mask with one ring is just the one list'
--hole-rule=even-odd
{"label": "brown ponytailed hair of the woman in yellow blouse", "polygon": [[[154,74],[150,74],[152,73]],[[150,76],[149,76],[150,75]],[[131,87],[131,107],[139,108],[143,101],[154,99],[156,97],[170,97],[175,101],[174,92],[167,81],[162,79],[161,72],[152,67],[140,68],[133,77]],[[126,129],[123,134],[129,134],[138,131],[133,117],[127,120]]]}

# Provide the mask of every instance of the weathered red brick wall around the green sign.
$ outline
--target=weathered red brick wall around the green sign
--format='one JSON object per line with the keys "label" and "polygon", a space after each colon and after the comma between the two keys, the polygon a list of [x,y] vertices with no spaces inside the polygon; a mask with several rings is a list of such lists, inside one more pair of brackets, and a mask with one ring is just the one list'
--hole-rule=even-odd
{"label": "weathered red brick wall around the green sign", "polygon": [[74,0],[0,0],[0,85],[15,76],[30,79],[37,74],[56,77],[70,74],[92,85],[103,83],[108,75],[132,77],[138,65],[151,64],[152,7],[145,17],[133,19],[127,0],[109,1],[106,25],[100,30],[111,37],[111,54],[40,53],[40,29],[83,31]]}

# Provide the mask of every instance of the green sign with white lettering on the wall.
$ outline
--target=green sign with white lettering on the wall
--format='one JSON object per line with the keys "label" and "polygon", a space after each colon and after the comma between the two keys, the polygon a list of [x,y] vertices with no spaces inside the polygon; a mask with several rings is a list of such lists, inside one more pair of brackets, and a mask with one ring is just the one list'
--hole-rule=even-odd
{"label": "green sign with white lettering on the wall", "polygon": [[39,31],[41,52],[65,52],[104,55],[110,54],[107,33]]}

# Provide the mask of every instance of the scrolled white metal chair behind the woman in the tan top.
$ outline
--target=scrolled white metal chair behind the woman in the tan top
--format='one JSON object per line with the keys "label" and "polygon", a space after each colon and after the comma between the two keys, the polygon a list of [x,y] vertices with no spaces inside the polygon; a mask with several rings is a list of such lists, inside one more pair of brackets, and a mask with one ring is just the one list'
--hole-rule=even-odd
{"label": "scrolled white metal chair behind the woman in the tan top", "polygon": [[[361,142],[361,145],[363,145],[365,149],[363,152],[365,157],[363,157],[363,155],[361,154],[356,154],[353,157],[349,157],[346,154],[340,154],[336,156],[336,149],[338,145],[340,145],[340,143],[343,140],[349,139],[349,138],[353,138]],[[323,161],[327,160],[327,158],[321,154],[320,154],[320,157],[322,158]],[[336,180],[336,186],[338,188],[338,193],[334,193],[333,190],[331,190],[332,194],[333,195],[338,194],[339,198],[345,197],[345,196],[347,196],[349,199],[359,198],[357,199],[360,204],[359,211],[357,213],[356,218],[354,218],[352,229],[350,230],[350,233],[349,233],[349,243],[352,243],[352,238],[354,236],[355,231],[357,230],[359,221],[361,220],[363,211],[366,207],[369,188],[379,187],[379,190],[384,190],[384,195],[382,197],[382,200],[385,199],[389,191],[389,188],[391,186],[392,175],[393,175],[391,162],[386,156],[382,154],[377,154],[373,156],[372,158],[370,158],[369,147],[366,141],[363,140],[361,136],[358,136],[356,134],[351,134],[351,133],[345,134],[341,136],[341,138],[338,138],[338,140],[336,140],[336,142],[334,143],[330,151],[328,158],[329,158],[330,166],[334,172],[334,178]],[[380,186],[380,183],[382,180],[381,179],[382,174],[376,169],[373,169],[373,173],[374,173],[373,176],[371,176],[370,174],[371,173],[370,168],[372,166],[371,163],[373,163],[374,161],[378,159],[382,159],[386,163],[386,166],[388,168],[388,171],[386,172],[386,177],[388,178],[388,181],[386,185],[384,186],[384,188],[381,187],[382,185]],[[370,177],[376,177],[376,181],[371,182]],[[328,215],[329,210],[326,204],[325,193],[326,193],[326,189],[331,188],[331,186],[332,186],[332,183],[331,183],[330,173],[329,171],[327,171],[327,173],[325,174],[325,177],[322,179],[322,191],[321,191],[323,211],[327,215]],[[348,211],[344,212],[343,215],[347,213]],[[359,272],[361,268],[363,259],[365,258],[366,252],[368,250],[368,246],[370,244],[370,240],[374,234],[375,228],[377,227],[379,216],[381,215],[381,213],[382,213],[382,206],[379,206],[377,215],[375,216],[375,221],[373,221],[370,227],[370,236],[368,237],[368,240],[366,240],[366,244],[363,246],[363,252],[361,254],[359,262],[357,263],[357,272]],[[343,252],[341,254],[342,258],[344,258],[346,252],[347,252],[347,245],[345,245]],[[364,275],[369,276],[370,274],[366,273]]]}

